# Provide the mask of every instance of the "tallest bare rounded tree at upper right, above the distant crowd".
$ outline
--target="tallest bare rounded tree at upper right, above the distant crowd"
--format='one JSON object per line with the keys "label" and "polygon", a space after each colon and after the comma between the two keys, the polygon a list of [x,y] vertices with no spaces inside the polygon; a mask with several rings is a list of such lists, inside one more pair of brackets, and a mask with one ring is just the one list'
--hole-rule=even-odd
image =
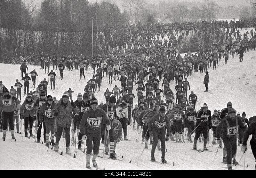
{"label": "tallest bare rounded tree at upper right, above the distant crowd", "polygon": [[204,0],[202,5],[202,19],[212,21],[219,13],[218,4],[213,0]]}

